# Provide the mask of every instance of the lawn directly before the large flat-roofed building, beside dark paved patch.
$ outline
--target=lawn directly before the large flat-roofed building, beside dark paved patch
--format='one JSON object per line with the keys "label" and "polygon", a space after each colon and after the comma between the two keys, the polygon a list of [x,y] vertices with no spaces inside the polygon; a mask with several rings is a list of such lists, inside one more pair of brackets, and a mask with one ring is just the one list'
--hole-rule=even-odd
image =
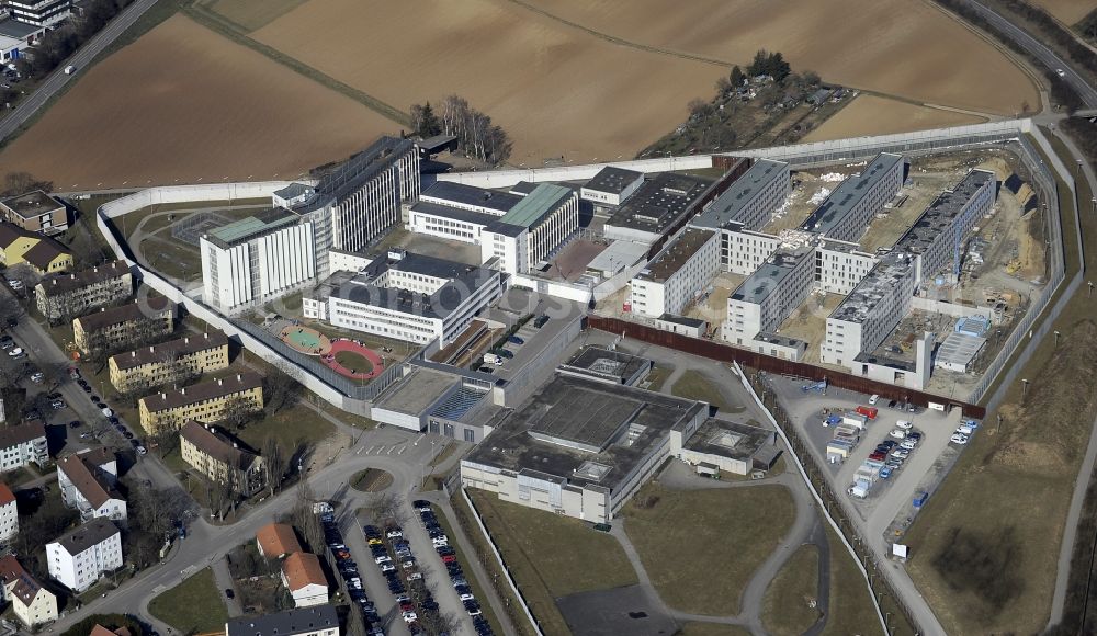
{"label": "lawn directly before the large flat-roofed building, beside dark paved patch", "polygon": [[468,493],[546,634],[568,633],[554,599],[637,582],[617,541],[589,524],[500,501],[490,492]]}

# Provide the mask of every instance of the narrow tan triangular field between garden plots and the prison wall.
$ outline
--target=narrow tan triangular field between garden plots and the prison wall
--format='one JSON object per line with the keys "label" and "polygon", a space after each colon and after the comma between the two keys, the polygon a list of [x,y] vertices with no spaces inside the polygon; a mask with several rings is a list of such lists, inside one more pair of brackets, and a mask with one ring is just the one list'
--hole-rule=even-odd
{"label": "narrow tan triangular field between garden plots and the prison wall", "polygon": [[861,135],[889,135],[909,130],[981,124],[985,121],[986,117],[977,115],[861,94],[824,122],[822,126],[808,133],[803,140],[828,141]]}

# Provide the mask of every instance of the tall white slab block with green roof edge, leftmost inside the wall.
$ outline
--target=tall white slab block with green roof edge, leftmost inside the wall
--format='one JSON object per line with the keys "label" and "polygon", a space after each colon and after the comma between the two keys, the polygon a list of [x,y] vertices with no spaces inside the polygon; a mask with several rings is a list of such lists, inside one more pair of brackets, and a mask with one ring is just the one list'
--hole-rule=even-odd
{"label": "tall white slab block with green roof edge, leftmost inside the wall", "polygon": [[261,305],[316,279],[313,224],[281,208],[199,239],[202,299],[226,314]]}

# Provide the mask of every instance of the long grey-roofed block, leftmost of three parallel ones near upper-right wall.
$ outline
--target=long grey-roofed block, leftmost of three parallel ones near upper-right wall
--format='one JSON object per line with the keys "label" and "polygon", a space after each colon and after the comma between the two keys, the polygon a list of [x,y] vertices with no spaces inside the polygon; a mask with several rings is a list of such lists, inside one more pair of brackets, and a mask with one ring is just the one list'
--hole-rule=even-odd
{"label": "long grey-roofed block, leftmost of three parallel ones near upper-right wall", "polygon": [[720,229],[737,223],[746,230],[759,230],[792,192],[789,164],[758,159],[727,190],[716,197],[690,225]]}

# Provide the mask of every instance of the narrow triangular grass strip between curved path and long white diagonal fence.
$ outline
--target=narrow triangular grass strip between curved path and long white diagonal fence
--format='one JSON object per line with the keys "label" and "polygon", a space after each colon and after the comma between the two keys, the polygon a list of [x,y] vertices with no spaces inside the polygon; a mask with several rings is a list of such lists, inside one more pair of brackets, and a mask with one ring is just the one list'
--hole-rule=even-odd
{"label": "narrow triangular grass strip between curved path and long white diagonal fence", "polygon": [[[830,607],[826,627],[823,628],[824,636],[878,634],[880,618],[861,570],[829,523],[826,524],[826,536],[830,544]],[[900,633],[908,632],[904,629]]]}

